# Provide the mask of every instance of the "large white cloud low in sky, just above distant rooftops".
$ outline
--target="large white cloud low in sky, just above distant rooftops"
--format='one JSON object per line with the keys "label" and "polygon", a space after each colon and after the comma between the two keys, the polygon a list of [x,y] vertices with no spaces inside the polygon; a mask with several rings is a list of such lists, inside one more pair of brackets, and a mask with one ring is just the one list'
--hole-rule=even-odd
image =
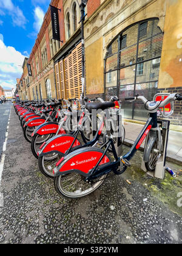
{"label": "large white cloud low in sky, just above distant rooftops", "polygon": [[4,88],[13,88],[16,85],[16,78],[21,77],[21,66],[25,56],[12,46],[5,46],[2,38],[0,34],[0,85]]}

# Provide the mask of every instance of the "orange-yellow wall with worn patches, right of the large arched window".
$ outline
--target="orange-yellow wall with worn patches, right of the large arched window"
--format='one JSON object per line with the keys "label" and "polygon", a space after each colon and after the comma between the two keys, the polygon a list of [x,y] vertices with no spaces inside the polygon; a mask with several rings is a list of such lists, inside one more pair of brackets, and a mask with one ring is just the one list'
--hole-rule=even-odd
{"label": "orange-yellow wall with worn patches, right of the large arched window", "polygon": [[182,1],[168,0],[159,88],[182,87]]}

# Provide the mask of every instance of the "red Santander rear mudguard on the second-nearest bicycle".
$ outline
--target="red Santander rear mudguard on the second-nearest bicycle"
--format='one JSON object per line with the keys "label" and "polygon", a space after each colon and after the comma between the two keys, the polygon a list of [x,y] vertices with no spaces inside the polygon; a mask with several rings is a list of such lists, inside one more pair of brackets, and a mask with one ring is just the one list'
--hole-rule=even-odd
{"label": "red Santander rear mudguard on the second-nearest bicycle", "polygon": [[[43,146],[41,146],[41,151],[38,152],[38,156],[42,157],[43,155],[50,154],[50,152],[64,155],[70,146],[72,146],[74,139],[75,137],[69,134],[56,135],[42,144]],[[81,146],[81,142],[77,139],[75,140],[72,148],[75,148],[76,146]]]}

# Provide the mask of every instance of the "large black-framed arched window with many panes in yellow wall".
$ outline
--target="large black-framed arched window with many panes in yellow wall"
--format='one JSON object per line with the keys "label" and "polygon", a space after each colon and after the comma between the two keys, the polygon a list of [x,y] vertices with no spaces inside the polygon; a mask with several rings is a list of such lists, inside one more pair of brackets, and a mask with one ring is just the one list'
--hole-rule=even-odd
{"label": "large black-framed arched window with many panes in yellow wall", "polygon": [[108,46],[106,55],[106,99],[115,94],[122,101],[124,117],[146,119],[141,102],[125,98],[136,94],[149,101],[157,93],[163,32],[158,19],[140,21],[124,29]]}

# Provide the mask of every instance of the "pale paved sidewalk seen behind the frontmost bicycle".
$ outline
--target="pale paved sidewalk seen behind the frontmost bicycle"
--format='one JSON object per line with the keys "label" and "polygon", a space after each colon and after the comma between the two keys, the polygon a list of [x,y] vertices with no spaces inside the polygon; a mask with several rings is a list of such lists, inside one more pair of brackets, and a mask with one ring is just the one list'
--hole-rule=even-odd
{"label": "pale paved sidewalk seen behind the frontmost bicycle", "polygon": [[[136,124],[125,121],[124,127],[126,130],[125,143],[132,145],[141,132],[143,124]],[[141,148],[144,148],[144,142],[141,145]],[[172,162],[175,161],[178,162],[178,164],[182,163],[182,132],[175,132],[174,130],[169,131],[167,158]]]}

